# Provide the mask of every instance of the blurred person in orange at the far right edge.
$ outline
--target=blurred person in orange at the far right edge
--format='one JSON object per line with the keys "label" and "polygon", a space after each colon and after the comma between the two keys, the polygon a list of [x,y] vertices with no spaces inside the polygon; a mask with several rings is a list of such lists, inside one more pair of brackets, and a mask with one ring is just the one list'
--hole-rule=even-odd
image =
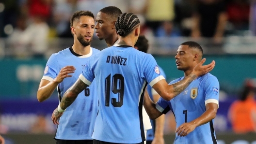
{"label": "blurred person in orange at the far right edge", "polygon": [[229,118],[232,129],[236,133],[256,131],[256,101],[255,87],[251,81],[247,81],[242,89],[240,100],[231,104]]}

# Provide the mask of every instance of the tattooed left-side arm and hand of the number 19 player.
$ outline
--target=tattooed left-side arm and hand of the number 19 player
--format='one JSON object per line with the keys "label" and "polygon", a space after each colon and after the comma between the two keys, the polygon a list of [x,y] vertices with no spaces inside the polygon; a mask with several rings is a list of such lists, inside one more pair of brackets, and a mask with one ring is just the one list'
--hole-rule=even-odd
{"label": "tattooed left-side arm and hand of the number 19 player", "polygon": [[[83,83],[79,78],[76,83],[64,93],[64,96],[59,105],[63,112],[76,100],[78,94],[80,94],[80,92],[82,92],[87,86],[88,85]],[[54,124],[59,124],[58,119],[63,115],[63,112],[59,112],[58,108],[53,111],[51,119]]]}

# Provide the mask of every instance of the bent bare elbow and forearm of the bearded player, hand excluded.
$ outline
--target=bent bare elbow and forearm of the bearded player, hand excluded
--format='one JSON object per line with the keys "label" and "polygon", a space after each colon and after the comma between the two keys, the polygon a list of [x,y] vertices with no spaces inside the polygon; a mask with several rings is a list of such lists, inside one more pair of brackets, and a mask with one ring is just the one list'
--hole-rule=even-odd
{"label": "bent bare elbow and forearm of the bearded player, hand excluded", "polygon": [[37,100],[39,102],[47,100],[51,96],[55,88],[58,86],[58,84],[59,83],[57,83],[55,79],[51,82],[48,80],[41,80],[36,95]]}

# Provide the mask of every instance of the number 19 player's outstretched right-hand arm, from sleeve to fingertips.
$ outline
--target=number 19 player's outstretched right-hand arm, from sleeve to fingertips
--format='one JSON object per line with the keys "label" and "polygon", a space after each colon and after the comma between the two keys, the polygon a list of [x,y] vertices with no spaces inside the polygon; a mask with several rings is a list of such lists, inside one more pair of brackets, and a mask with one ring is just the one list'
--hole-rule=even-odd
{"label": "number 19 player's outstretched right-hand arm, from sleeve to fingertips", "polygon": [[175,96],[180,94],[187,86],[191,84],[193,80],[195,80],[198,76],[204,75],[208,72],[210,72],[214,66],[215,66],[215,61],[213,60],[210,64],[204,65],[203,63],[206,61],[205,58],[201,60],[200,63],[198,63],[194,69],[193,72],[185,77],[183,80],[172,84],[168,85],[164,79],[160,80],[157,82],[154,86],[152,86],[158,93],[159,95],[166,101],[170,101],[173,99]]}

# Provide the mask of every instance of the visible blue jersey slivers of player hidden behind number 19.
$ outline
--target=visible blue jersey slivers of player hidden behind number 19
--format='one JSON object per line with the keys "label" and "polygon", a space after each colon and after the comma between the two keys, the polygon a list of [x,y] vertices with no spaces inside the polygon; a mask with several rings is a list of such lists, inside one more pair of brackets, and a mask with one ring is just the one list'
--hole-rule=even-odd
{"label": "visible blue jersey slivers of player hidden behind number 19", "polygon": [[[163,75],[163,77],[166,78],[166,75],[163,72],[162,68],[159,67],[159,69],[160,69],[160,72]],[[148,93],[149,97],[151,98],[151,100],[154,101],[153,95],[157,94],[155,89],[152,88],[151,86],[147,85],[147,93]],[[146,133],[147,134],[147,138],[146,138],[147,141],[153,141],[153,139],[155,137],[155,129],[156,129],[155,120],[150,119],[150,122],[151,122],[151,125],[152,125],[152,129],[147,130],[147,133]]]}

